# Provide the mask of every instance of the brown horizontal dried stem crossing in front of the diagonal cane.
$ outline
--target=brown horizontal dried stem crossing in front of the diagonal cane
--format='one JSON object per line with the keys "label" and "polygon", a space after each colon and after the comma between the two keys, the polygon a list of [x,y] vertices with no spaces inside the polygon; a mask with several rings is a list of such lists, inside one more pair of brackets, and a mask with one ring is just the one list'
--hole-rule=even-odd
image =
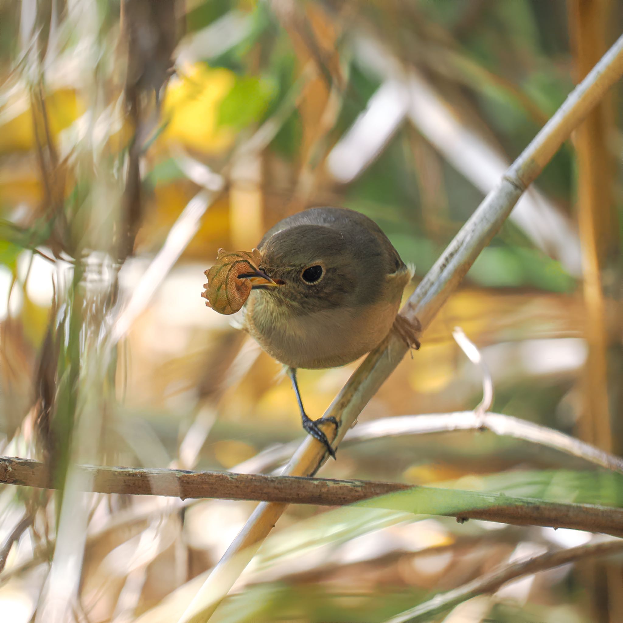
{"label": "brown horizontal dried stem crossing in front of the diagonal cane", "polygon": [[[217,498],[221,500],[268,500],[273,503],[344,506],[379,495],[407,490],[422,490],[433,502],[447,500],[448,490],[412,487],[397,482],[370,480],[333,480],[266,476],[231,472],[188,472],[174,469],[123,467],[76,468],[85,491],[96,493],[131,493],[181,498]],[[30,459],[0,459],[0,482],[29,487],[56,488],[45,465]],[[477,499],[475,499],[477,498]],[[473,493],[453,489],[452,499],[459,510],[442,515],[460,519],[500,521],[513,525],[553,526],[623,535],[623,510],[606,506],[546,502],[532,498],[506,497],[498,493]],[[478,508],[470,509],[477,502]],[[383,508],[383,502],[373,502]],[[466,510],[467,509],[467,510]]]}

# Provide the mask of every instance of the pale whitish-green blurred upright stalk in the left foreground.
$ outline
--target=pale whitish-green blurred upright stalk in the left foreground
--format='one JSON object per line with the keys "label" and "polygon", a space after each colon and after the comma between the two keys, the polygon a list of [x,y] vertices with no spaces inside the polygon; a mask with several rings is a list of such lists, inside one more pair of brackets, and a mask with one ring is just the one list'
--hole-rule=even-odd
{"label": "pale whitish-green blurred upright stalk in the left foreground", "polygon": [[[40,452],[51,472],[48,477],[59,490],[54,507],[54,554],[37,622],[67,621],[79,604],[93,496],[83,493],[90,490],[90,477],[75,465],[102,456],[103,425],[115,401],[117,352],[109,339],[108,316],[117,302],[118,272],[133,252],[141,222],[143,102],[151,91],[159,90],[171,66],[174,36],[169,31],[176,21],[168,16],[174,6],[174,0],[163,1],[150,12],[150,4],[124,0],[121,41],[126,43],[126,57],[116,63],[118,50],[112,42],[118,39],[110,37],[110,29],[117,26],[108,19],[114,6],[84,0],[66,6],[22,4],[22,78],[31,92],[39,173],[45,188],[42,218],[50,231],[49,239],[41,244],[48,245],[55,257],[67,260],[56,266],[32,410]],[[143,14],[143,9],[150,14]],[[141,28],[147,28],[151,36],[138,32]],[[168,29],[166,36],[153,37],[163,28]],[[50,132],[45,68],[62,65],[60,55],[68,32],[80,36],[81,62],[74,86],[85,113],[81,123],[75,123],[70,148],[65,145],[62,151]],[[48,40],[41,39],[42,33]],[[145,49],[146,41],[158,49]],[[121,74],[127,70],[126,75],[118,75],[120,68]],[[123,115],[119,101],[129,109],[132,127],[127,128],[128,135],[134,132],[126,150],[117,150],[110,141],[115,126],[110,123],[111,111]]]}

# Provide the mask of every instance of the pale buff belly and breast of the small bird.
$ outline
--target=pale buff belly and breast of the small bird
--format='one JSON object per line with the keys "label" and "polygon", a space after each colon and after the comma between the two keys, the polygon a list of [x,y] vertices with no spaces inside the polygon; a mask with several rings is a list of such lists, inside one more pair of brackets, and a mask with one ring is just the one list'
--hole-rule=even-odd
{"label": "pale buff belly and breast of the small bird", "polygon": [[334,368],[369,353],[388,335],[400,304],[380,302],[302,316],[262,305],[259,314],[256,296],[252,293],[245,306],[245,328],[267,353],[292,368]]}

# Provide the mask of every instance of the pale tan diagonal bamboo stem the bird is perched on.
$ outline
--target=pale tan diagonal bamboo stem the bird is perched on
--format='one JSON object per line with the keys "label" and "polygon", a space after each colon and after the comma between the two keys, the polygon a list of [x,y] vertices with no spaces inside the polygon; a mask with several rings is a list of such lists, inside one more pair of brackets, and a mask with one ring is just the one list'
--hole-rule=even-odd
{"label": "pale tan diagonal bamboo stem the bird is perched on", "polygon": [[[592,71],[569,95],[535,139],[510,166],[497,188],[485,197],[454,240],[419,284],[402,314],[416,316],[426,328],[450,293],[457,288],[480,251],[490,242],[521,193],[541,173],[571,131],[623,74],[623,36],[602,57]],[[372,351],[353,373],[325,416],[333,416],[340,427],[333,439],[338,445],[353,426],[359,413],[374,396],[383,381],[396,368],[407,346],[396,335],[390,335],[384,346]],[[333,434],[331,430],[327,432]],[[325,461],[323,446],[311,437],[292,457],[284,474],[308,476],[317,472]],[[226,596],[240,573],[270,533],[287,505],[260,503],[221,561],[214,568],[179,623],[205,623]]]}

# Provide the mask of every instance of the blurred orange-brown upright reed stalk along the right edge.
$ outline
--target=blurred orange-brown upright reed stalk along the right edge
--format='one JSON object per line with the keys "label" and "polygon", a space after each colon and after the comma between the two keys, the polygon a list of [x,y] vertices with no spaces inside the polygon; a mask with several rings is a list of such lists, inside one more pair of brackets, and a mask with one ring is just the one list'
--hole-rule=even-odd
{"label": "blurred orange-brown upright reed stalk along the right edge", "polygon": [[[576,80],[581,80],[606,50],[614,11],[610,0],[569,0],[569,32]],[[609,331],[602,274],[616,244],[614,212],[615,156],[609,137],[615,131],[612,94],[605,97],[574,133],[577,176],[577,211],[582,252],[584,338],[588,346],[581,383],[583,409],[579,436],[609,452],[612,413],[609,406]],[[617,449],[620,451],[620,449]],[[621,568],[589,561],[580,569],[592,602],[592,616],[602,623],[623,619]]]}

